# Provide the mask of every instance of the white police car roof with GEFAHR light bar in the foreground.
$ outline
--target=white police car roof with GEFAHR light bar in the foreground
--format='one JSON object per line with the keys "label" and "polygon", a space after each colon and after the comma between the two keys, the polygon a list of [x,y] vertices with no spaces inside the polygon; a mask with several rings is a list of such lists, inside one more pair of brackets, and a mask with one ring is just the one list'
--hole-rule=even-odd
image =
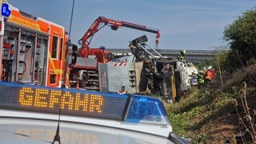
{"label": "white police car roof with GEFAHR light bar in the foreground", "polygon": [[0,143],[189,143],[158,98],[0,82]]}

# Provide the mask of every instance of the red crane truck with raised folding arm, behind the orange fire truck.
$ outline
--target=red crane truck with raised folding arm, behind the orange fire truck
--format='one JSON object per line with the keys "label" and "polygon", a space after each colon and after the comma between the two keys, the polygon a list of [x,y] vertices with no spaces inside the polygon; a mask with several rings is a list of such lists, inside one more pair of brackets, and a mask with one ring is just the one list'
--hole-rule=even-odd
{"label": "red crane truck with raised folding arm, behind the orange fire truck", "polygon": [[160,37],[159,30],[147,26],[141,26],[130,22],[118,21],[105,17],[98,17],[83,37],[78,41],[82,47],[78,50],[73,46],[70,55],[70,82],[78,82],[80,87],[98,86],[98,63],[109,62],[110,55],[104,48],[90,48],[90,42],[94,34],[104,26],[110,26],[111,30],[118,30],[120,27],[127,27],[134,30],[142,30],[156,34],[156,45]]}

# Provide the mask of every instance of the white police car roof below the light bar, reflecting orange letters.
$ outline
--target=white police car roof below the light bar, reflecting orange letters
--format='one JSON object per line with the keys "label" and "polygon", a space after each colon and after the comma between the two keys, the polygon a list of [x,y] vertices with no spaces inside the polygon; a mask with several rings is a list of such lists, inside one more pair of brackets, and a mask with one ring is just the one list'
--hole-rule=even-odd
{"label": "white police car roof below the light bar, reflecting orange letters", "polygon": [[[57,126],[58,122],[52,120],[0,118],[0,143],[51,143]],[[134,130],[74,122],[60,122],[60,138],[61,143],[174,143]]]}

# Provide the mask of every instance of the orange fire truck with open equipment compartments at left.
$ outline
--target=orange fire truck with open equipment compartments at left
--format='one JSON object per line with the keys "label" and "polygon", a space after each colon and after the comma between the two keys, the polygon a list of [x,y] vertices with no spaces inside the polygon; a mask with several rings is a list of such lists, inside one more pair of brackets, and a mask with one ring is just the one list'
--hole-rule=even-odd
{"label": "orange fire truck with open equipment compartments at left", "polygon": [[0,18],[1,81],[60,86],[67,41],[64,27],[11,8],[9,18]]}

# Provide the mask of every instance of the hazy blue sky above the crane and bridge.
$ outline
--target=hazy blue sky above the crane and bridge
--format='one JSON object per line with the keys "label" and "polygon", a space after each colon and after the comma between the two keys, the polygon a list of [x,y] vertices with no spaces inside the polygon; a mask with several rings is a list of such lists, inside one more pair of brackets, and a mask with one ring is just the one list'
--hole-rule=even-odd
{"label": "hazy blue sky above the crane and bridge", "polygon": [[[132,22],[160,30],[158,49],[214,50],[227,46],[223,32],[255,0],[9,0],[19,10],[57,23],[70,30],[74,44],[82,38],[99,16]],[[128,49],[129,42],[146,34],[147,44],[155,46],[155,34],[121,27],[117,31],[105,26],[94,35],[90,47]],[[78,46],[80,47],[80,46]]]}

